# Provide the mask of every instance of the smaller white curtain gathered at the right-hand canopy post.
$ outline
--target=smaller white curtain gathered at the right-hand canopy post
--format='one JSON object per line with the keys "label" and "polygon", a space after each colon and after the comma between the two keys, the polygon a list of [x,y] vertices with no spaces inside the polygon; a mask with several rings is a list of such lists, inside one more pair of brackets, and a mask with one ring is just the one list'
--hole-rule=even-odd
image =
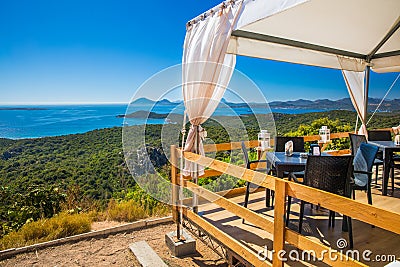
{"label": "smaller white curtain gathered at the right-hand canopy post", "polygon": [[365,71],[356,72],[342,70],[342,74],[346,82],[347,90],[349,91],[351,102],[361,120],[361,127],[358,130],[358,134],[367,135],[367,114],[365,112],[365,97],[367,96],[364,90]]}

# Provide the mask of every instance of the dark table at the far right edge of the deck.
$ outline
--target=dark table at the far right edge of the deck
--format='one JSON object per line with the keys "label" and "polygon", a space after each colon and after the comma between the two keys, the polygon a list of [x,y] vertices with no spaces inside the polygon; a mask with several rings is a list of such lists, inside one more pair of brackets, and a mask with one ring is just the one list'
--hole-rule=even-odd
{"label": "dark table at the far right edge of the deck", "polygon": [[368,141],[368,143],[379,147],[379,150],[383,152],[382,195],[386,196],[387,186],[389,183],[389,172],[391,167],[392,155],[393,152],[400,151],[400,146],[396,146],[393,141]]}

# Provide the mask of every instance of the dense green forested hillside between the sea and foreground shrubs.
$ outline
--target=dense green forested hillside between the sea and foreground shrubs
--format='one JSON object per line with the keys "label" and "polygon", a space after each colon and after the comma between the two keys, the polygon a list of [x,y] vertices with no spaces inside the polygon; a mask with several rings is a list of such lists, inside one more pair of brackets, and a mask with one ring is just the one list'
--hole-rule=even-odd
{"label": "dense green forested hillside between the sea and foreground shrubs", "polygon": [[[356,115],[350,111],[330,111],[298,115],[275,114],[279,134],[296,131],[300,124],[328,117],[338,119],[352,128]],[[249,136],[256,138],[258,129],[253,127],[252,116],[244,116],[245,125],[252,129]],[[382,113],[375,116],[370,127],[398,125],[400,115]],[[135,126],[132,126],[135,127]],[[177,127],[177,126],[171,126]],[[228,142],[229,137],[213,122],[206,123],[208,137],[216,143]],[[161,125],[146,126],[147,145],[160,159]],[[179,129],[176,129],[179,132]],[[165,173],[168,169],[165,169]],[[60,184],[67,188],[78,185],[83,194],[94,199],[118,197],[135,184],[130,175],[122,151],[121,127],[95,130],[85,134],[73,134],[37,139],[0,139],[0,186],[24,191],[31,184]]]}

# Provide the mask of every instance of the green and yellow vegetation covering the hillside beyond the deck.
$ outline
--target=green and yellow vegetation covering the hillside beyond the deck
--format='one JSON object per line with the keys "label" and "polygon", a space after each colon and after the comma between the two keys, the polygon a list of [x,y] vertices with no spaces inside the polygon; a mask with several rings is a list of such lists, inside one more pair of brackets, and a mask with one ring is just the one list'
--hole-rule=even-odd
{"label": "green and yellow vegetation covering the hillside beyond the deck", "polygon": [[[274,114],[274,118],[279,135],[298,136],[318,134],[322,125],[327,125],[332,133],[354,130],[356,114],[329,111]],[[399,122],[399,113],[382,113],[375,115],[368,127],[392,127]],[[260,130],[255,117],[250,115],[239,121],[246,127],[245,137],[237,130],[237,120],[230,122],[225,118],[224,123],[227,123],[225,128],[216,121],[204,124],[209,140],[224,143],[256,139]],[[137,145],[144,127],[131,127],[134,134],[127,142]],[[178,136],[177,140],[171,137],[166,143],[180,143],[178,125],[146,126],[145,150],[161,174],[158,181],[165,181],[148,183],[146,188],[137,184],[137,181],[147,179],[140,166],[134,163],[128,166],[125,161],[120,127],[58,137],[0,139],[0,238],[3,237],[0,248],[89,231],[92,220],[134,221],[168,214],[169,206],[159,201],[169,198],[166,191],[170,179],[169,147],[164,148],[161,143],[162,131],[176,133],[167,136]],[[334,141],[330,148],[348,146],[348,140],[343,139]],[[255,157],[255,154],[251,151],[250,156]],[[221,151],[215,156],[237,165],[244,163],[240,151]],[[136,148],[128,157],[136,157]],[[134,170],[135,179],[128,167]],[[213,191],[244,184],[229,175],[200,179],[199,183]],[[147,195],[146,190],[157,192],[158,200]]]}

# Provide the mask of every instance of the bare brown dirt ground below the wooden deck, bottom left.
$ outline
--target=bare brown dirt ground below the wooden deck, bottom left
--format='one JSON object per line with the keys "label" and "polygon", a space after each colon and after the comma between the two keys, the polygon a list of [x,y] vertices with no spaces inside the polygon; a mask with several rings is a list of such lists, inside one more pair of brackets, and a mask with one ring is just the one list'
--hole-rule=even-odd
{"label": "bare brown dirt ground below the wooden deck, bottom left", "polygon": [[[116,222],[101,222],[94,224],[92,229],[99,230],[117,225]],[[184,258],[172,256],[165,245],[164,236],[175,229],[175,225],[171,223],[110,235],[107,238],[83,240],[20,254],[0,261],[0,266],[140,266],[128,246],[142,240],[146,241],[168,266],[227,266],[220,256],[200,240],[196,242],[197,254]]]}

